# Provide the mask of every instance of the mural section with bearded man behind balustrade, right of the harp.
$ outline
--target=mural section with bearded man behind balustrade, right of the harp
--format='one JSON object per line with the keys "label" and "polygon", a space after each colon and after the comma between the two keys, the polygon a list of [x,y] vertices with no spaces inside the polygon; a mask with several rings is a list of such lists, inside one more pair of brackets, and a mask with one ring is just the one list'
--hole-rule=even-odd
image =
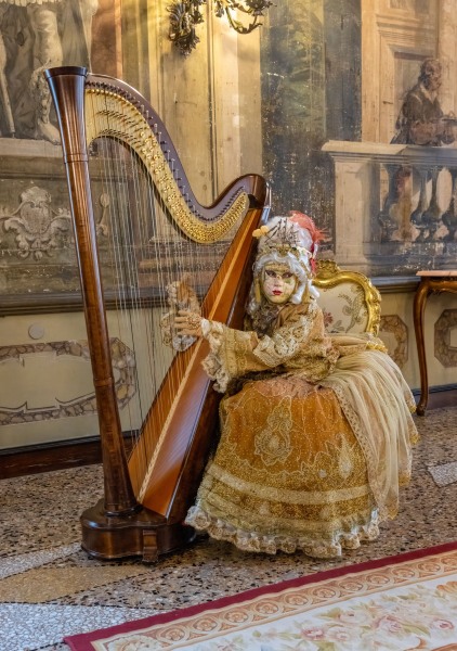
{"label": "mural section with bearded man behind balustrade, right of the harp", "polygon": [[371,277],[455,267],[452,2],[304,4],[272,10],[262,39],[276,212],[308,209]]}

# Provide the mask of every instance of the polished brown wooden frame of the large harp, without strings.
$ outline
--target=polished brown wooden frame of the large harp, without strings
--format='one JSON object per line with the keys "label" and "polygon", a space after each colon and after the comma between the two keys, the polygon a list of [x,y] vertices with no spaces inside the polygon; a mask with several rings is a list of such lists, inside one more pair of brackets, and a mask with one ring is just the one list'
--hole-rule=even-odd
{"label": "polished brown wooden frame of the large harp, without strings", "polygon": [[[224,270],[222,290],[212,295],[211,305],[206,305],[206,314],[210,318],[232,327],[240,328],[243,324],[245,302],[251,282],[252,231],[267,216],[270,189],[264,178],[259,175],[243,176],[233,181],[213,204],[203,206],[188,186],[165,126],[140,93],[122,81],[90,74],[81,67],[51,68],[45,71],[45,78],[56,108],[62,138],[104,472],[104,498],[81,515],[82,547],[91,556],[101,559],[142,556],[145,562],[152,562],[160,554],[184,547],[195,537],[195,532],[185,526],[183,520],[195,498],[207,460],[212,433],[217,426],[220,396],[213,391],[201,368],[201,360],[206,357],[208,348],[206,342],[199,340],[188,352],[180,354],[186,355],[187,366],[180,396],[177,398],[180,400],[179,408],[173,403],[174,398],[169,395],[167,376],[158,397],[154,400],[161,400],[162,408],[165,406],[169,414],[167,422],[161,423],[166,430],[166,443],[160,448],[161,452],[155,465],[158,488],[152,490],[151,499],[142,499],[140,503],[129,473],[115,392],[91,199],[86,93],[112,93],[110,97],[116,95],[119,101],[141,113],[151,129],[159,125],[158,145],[161,155],[167,154],[173,158],[171,181],[175,187],[170,190],[173,182],[167,180],[166,196],[173,196],[169,200],[168,207],[172,212],[178,204],[178,210],[184,215],[184,220],[192,221],[191,230],[194,228],[194,216],[197,216],[217,235],[221,216],[226,214],[227,209],[233,209],[231,206],[239,203],[240,199],[245,202],[246,216],[227,254],[232,256],[233,263],[228,271]],[[116,138],[122,139],[119,125],[116,128]],[[140,145],[141,141],[144,144],[143,132],[139,140]],[[136,146],[131,141],[127,144],[133,149]],[[134,151],[136,153],[135,149]],[[179,199],[178,192],[181,193]],[[239,213],[239,208],[236,210]],[[208,291],[207,296],[210,294],[211,291]]]}

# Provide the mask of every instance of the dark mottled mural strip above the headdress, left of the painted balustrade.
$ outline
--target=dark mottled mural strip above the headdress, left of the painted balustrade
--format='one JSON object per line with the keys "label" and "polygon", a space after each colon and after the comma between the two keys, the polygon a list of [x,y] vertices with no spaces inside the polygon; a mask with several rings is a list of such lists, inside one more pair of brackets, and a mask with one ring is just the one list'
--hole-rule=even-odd
{"label": "dark mottled mural strip above the headdress, left of the painted balustrade", "polygon": [[357,1],[280,2],[262,34],[265,175],[273,208],[313,215],[335,237],[329,139],[361,138],[361,8]]}

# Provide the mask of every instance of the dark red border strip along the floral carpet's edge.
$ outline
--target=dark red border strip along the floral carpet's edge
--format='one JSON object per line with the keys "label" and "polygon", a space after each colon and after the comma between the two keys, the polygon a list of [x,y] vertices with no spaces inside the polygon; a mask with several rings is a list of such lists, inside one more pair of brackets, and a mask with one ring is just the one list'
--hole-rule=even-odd
{"label": "dark red border strip along the floral carpet's edge", "polygon": [[[457,541],[444,542],[443,545],[436,545],[434,547],[427,547],[423,549],[406,551],[391,557],[383,557],[381,559],[374,559],[371,561],[364,561],[362,563],[354,563],[351,565],[342,565],[339,567],[332,567],[331,570],[323,570],[321,572],[315,572],[314,574],[306,574],[305,576],[289,578],[276,584],[262,586],[261,588],[251,588],[243,592],[237,592],[236,595],[221,597],[220,599],[217,599],[214,601],[205,601],[204,603],[198,603],[196,605],[190,605],[186,608],[178,609],[174,611],[168,611],[165,613],[157,613],[147,617],[141,617],[139,620],[125,622],[123,624],[116,624],[115,626],[109,626],[107,628],[97,628],[89,633],[70,635],[64,637],[63,641],[66,644],[68,644],[71,651],[93,651],[93,646],[91,644],[91,642],[101,638],[100,633],[102,630],[103,637],[110,637],[116,635],[117,633],[120,633],[120,630],[122,633],[129,633],[138,628],[145,628],[148,626],[156,626],[159,624],[168,624],[175,620],[182,620],[185,617],[193,617],[195,615],[198,615],[205,610],[208,610],[209,607],[211,608],[211,610],[223,609],[227,605],[233,605],[237,602],[249,601],[250,599],[260,597],[262,595],[274,595],[276,592],[282,592],[283,590],[287,590],[289,588],[305,586],[308,584],[319,583],[322,580],[327,580],[331,578],[338,578],[340,576],[349,575],[352,573],[356,574],[360,572],[367,572],[369,570],[377,570],[379,567],[384,567],[386,565],[400,564],[403,562],[414,561],[429,556],[445,553],[447,551],[453,551],[456,549]],[[74,646],[74,643],[77,646]]]}

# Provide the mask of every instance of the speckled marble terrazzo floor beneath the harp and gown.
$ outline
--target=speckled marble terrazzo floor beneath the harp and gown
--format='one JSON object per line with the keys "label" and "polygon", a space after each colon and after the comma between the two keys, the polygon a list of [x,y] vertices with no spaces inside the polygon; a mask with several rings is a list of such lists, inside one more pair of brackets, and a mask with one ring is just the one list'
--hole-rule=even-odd
{"label": "speckled marble terrazzo floor beneath the harp and gown", "polygon": [[65,635],[185,608],[252,587],[457,540],[457,407],[417,418],[421,442],[399,518],[342,559],[247,554],[200,539],[155,565],[93,560],[79,514],[100,495],[84,467],[0,482],[0,651],[67,651]]}

